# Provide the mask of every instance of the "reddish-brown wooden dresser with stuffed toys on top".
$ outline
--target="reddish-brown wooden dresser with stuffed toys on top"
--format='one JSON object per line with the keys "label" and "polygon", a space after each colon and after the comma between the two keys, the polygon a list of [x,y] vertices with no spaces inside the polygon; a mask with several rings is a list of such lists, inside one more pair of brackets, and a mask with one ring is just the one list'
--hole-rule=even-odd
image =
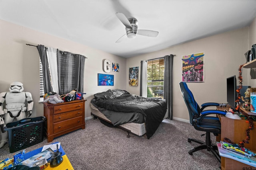
{"label": "reddish-brown wooden dresser with stuffed toys on top", "polygon": [[59,104],[44,103],[45,132],[48,142],[55,137],[85,128],[84,104],[86,100],[74,100]]}

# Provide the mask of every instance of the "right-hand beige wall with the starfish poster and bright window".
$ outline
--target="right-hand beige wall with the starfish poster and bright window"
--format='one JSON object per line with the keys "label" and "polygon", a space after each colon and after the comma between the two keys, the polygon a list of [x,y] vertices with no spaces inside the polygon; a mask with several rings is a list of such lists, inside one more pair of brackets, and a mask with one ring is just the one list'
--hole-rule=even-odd
{"label": "right-hand beige wall with the starfish poster and bright window", "polygon": [[[255,29],[254,29],[255,30]],[[188,120],[188,110],[181,96],[179,82],[182,81],[182,56],[204,53],[205,82],[188,83],[199,105],[206,102],[226,103],[226,78],[238,76],[238,68],[245,63],[244,53],[248,50],[249,28],[229,31],[189,43],[176,45],[146,55],[128,58],[127,68],[140,66],[141,60],[154,59],[174,54],[173,62],[173,117]],[[127,72],[128,70],[126,70]],[[127,72],[128,74],[128,72]],[[247,85],[244,76],[244,84]],[[127,86],[127,90],[139,95],[140,87]]]}

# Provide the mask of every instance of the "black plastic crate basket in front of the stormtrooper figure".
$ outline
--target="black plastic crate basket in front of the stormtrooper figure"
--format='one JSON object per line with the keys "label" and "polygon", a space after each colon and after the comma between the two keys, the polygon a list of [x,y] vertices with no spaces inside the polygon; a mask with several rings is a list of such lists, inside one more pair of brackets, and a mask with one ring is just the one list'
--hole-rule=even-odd
{"label": "black plastic crate basket in front of the stormtrooper figure", "polygon": [[36,145],[43,141],[44,121],[46,117],[25,118],[7,123],[4,130],[8,132],[10,153]]}

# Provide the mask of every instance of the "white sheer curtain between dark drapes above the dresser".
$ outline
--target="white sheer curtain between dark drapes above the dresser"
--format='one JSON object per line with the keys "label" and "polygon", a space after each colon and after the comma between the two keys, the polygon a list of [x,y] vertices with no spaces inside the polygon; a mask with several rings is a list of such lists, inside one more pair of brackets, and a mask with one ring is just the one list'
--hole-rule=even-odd
{"label": "white sheer curtain between dark drapes above the dresser", "polygon": [[59,94],[58,86],[58,66],[57,66],[57,49],[47,47],[46,55],[48,58],[49,69],[50,69],[50,81],[52,84],[53,92]]}

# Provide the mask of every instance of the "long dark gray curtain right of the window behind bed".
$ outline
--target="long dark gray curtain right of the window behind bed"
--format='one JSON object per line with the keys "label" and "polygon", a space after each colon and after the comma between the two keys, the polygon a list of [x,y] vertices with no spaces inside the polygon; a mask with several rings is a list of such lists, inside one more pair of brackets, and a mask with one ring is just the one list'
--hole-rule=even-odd
{"label": "long dark gray curtain right of the window behind bed", "polygon": [[173,92],[172,92],[172,66],[173,66],[174,55],[164,56],[164,99],[167,102],[168,119],[172,120],[172,103],[173,103]]}

